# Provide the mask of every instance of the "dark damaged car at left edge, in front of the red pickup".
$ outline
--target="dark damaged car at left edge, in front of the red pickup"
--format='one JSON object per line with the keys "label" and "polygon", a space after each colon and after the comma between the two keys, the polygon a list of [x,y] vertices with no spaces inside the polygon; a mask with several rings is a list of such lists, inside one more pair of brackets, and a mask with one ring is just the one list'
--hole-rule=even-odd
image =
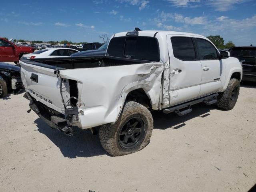
{"label": "dark damaged car at left edge, in front of the red pickup", "polygon": [[22,89],[20,67],[0,62],[0,98]]}

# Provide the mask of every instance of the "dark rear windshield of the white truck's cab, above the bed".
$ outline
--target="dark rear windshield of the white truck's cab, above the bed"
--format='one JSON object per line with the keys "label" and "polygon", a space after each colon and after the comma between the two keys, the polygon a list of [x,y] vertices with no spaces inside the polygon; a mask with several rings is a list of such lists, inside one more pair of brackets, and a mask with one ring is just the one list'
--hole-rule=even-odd
{"label": "dark rear windshield of the white truck's cab, above the bed", "polygon": [[108,45],[107,56],[159,61],[159,46],[156,38],[126,36],[112,38]]}

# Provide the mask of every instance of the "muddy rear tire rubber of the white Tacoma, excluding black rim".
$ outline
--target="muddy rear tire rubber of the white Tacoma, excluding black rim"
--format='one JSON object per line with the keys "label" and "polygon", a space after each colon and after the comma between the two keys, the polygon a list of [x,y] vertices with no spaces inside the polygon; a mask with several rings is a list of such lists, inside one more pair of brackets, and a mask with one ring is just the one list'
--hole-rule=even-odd
{"label": "muddy rear tire rubber of the white Tacoma, excluding black rim", "polygon": [[[145,136],[140,145],[132,149],[124,149],[120,145],[119,132],[124,126],[125,122],[133,116],[141,116],[145,121]],[[150,137],[153,130],[153,118],[150,111],[143,105],[130,101],[124,106],[122,113],[118,120],[111,126],[102,126],[99,131],[100,143],[102,147],[112,156],[122,156],[142,150],[150,142]]]}

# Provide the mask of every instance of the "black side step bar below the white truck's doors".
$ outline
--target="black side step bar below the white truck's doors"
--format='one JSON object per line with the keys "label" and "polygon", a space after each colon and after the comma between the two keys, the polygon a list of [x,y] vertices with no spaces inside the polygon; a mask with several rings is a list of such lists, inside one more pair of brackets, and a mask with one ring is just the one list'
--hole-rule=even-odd
{"label": "black side step bar below the white truck's doors", "polygon": [[[182,115],[185,115],[185,114],[188,114],[188,113],[192,112],[191,106],[194,105],[194,104],[198,104],[200,102],[204,102],[207,105],[211,105],[211,104],[216,103],[218,95],[219,94],[216,93],[216,94],[212,94],[212,95],[209,95],[209,96],[206,96],[206,97],[202,97],[202,98],[190,101],[190,102],[186,102],[184,104],[172,106],[171,108],[164,109],[163,112],[165,114],[168,114],[168,113],[171,113],[171,112],[175,112],[176,114],[178,114],[178,116],[182,116]],[[188,107],[188,109],[180,111],[181,109],[184,109],[184,108],[187,108],[187,107]]]}

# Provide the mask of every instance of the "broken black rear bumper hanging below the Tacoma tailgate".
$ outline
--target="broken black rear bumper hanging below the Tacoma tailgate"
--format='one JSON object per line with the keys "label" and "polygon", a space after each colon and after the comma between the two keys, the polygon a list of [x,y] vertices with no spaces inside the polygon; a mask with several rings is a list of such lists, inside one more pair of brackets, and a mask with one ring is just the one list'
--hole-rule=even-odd
{"label": "broken black rear bumper hanging below the Tacoma tailgate", "polygon": [[36,99],[30,96],[28,92],[24,94],[24,98],[30,101],[30,109],[27,111],[28,113],[33,110],[40,117],[40,119],[46,122],[46,124],[48,124],[51,128],[57,128],[68,136],[73,134],[72,124],[75,124],[78,121],[77,110],[65,110],[64,115],[38,102]]}

